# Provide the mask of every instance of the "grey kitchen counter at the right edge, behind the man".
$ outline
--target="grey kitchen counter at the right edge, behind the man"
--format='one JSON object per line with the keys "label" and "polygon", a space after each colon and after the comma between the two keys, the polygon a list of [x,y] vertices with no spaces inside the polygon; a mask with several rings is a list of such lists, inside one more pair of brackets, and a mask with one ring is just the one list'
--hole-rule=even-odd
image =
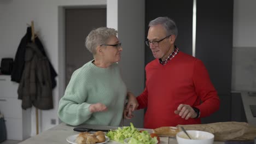
{"label": "grey kitchen counter at the right edge, behind the man", "polygon": [[249,96],[248,92],[241,92],[241,97],[243,101],[243,108],[245,109],[247,122],[251,125],[256,126],[256,117],[253,117],[252,111],[249,105],[256,105],[256,97]]}

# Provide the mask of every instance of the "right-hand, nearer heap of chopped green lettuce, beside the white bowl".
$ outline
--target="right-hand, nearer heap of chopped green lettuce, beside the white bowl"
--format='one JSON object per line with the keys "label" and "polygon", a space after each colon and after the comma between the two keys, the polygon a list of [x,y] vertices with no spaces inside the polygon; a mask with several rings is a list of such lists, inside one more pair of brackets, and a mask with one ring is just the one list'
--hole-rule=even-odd
{"label": "right-hand, nearer heap of chopped green lettuce, beside the white bowl", "polygon": [[128,140],[128,143],[132,144],[155,144],[158,143],[156,137],[152,138],[148,131],[142,131],[139,134],[132,135],[131,139]]}

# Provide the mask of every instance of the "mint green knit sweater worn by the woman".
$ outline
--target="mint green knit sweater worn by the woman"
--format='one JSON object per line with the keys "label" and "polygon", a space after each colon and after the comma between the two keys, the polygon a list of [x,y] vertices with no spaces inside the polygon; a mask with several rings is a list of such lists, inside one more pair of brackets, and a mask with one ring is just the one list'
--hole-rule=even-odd
{"label": "mint green knit sweater worn by the woman", "polygon": [[[70,125],[119,126],[127,89],[121,79],[118,64],[98,68],[92,61],[74,71],[60,99],[58,116],[62,122]],[[91,113],[89,106],[95,103],[106,105],[108,110]]]}

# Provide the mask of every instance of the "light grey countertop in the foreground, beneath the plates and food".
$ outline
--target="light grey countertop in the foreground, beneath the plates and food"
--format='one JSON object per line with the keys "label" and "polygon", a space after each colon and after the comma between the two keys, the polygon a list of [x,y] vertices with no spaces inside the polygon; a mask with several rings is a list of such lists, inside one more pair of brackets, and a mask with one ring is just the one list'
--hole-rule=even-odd
{"label": "light grey countertop in the foreground, beneath the plates and food", "polygon": [[[109,127],[109,126],[96,126],[96,125],[80,125],[79,127],[86,127],[86,128],[94,128],[94,129],[117,129],[118,127]],[[30,137],[30,139],[27,139],[25,141],[20,142],[20,144],[45,144],[45,143],[51,143],[51,144],[63,144],[68,143],[66,141],[66,138],[71,135],[79,134],[77,131],[73,131],[72,126],[67,125],[65,123],[61,123],[59,125],[56,125],[55,127],[43,131],[42,133]],[[141,129],[139,129],[141,130]],[[145,129],[150,130],[150,129]],[[172,143],[177,144],[177,140],[175,138],[168,138],[168,137],[160,137],[160,141],[162,144]],[[224,142],[214,142],[214,144],[224,144]]]}

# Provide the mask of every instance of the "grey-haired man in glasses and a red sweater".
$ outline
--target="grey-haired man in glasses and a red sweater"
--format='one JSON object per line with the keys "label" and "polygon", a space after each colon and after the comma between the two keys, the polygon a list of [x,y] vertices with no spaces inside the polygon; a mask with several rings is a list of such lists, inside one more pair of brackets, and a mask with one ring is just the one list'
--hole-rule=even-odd
{"label": "grey-haired man in glasses and a red sweater", "polygon": [[147,108],[144,128],[200,124],[201,117],[219,109],[205,65],[174,45],[177,33],[176,23],[168,17],[149,22],[146,44],[155,59],[146,65],[144,92],[129,98],[124,114],[130,119],[133,110]]}

